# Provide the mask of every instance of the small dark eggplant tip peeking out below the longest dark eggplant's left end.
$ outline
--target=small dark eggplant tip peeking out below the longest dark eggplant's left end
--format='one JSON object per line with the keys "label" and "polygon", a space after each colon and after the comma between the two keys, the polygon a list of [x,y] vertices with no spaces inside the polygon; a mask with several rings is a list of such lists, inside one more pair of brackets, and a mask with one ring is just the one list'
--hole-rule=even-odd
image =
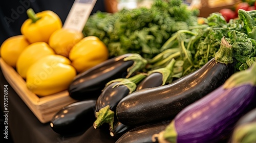
{"label": "small dark eggplant tip peeking out below the longest dark eggplant's left end", "polygon": [[132,130],[133,128],[135,128],[135,127],[125,126],[120,122],[116,122],[113,129],[110,130],[110,135],[113,136],[114,138],[119,138],[124,133]]}

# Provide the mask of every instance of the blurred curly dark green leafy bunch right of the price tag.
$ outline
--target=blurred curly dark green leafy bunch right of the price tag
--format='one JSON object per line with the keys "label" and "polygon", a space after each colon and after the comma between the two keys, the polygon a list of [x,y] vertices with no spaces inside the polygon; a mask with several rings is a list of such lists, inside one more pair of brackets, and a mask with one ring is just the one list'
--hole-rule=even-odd
{"label": "blurred curly dark green leafy bunch right of the price tag", "polygon": [[172,34],[196,26],[197,15],[198,10],[189,10],[180,0],[156,0],[151,8],[97,12],[89,17],[83,34],[99,37],[110,56],[138,53],[153,58]]}

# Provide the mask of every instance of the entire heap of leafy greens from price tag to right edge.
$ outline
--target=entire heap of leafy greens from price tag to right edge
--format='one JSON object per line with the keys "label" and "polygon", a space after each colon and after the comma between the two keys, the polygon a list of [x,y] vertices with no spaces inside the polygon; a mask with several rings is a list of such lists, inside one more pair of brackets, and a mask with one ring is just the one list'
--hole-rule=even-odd
{"label": "entire heap of leafy greens from price tag to right edge", "polygon": [[237,70],[255,63],[256,10],[240,9],[238,14],[238,19],[226,22],[220,13],[212,13],[199,24],[197,11],[187,9],[182,1],[157,0],[150,9],[97,12],[83,33],[99,37],[111,56],[140,54],[148,61],[146,70],[164,67],[172,59],[181,61],[172,77],[179,78],[214,58],[223,37],[232,45]]}

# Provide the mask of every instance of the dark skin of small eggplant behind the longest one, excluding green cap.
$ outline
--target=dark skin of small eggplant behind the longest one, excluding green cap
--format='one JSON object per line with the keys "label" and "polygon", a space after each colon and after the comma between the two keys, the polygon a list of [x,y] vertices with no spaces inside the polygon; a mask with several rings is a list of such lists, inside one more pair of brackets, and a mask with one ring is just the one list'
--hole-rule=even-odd
{"label": "dark skin of small eggplant behind the longest one, excluding green cap", "polygon": [[161,73],[152,73],[138,84],[136,90],[161,86],[163,84],[162,79],[163,75]]}

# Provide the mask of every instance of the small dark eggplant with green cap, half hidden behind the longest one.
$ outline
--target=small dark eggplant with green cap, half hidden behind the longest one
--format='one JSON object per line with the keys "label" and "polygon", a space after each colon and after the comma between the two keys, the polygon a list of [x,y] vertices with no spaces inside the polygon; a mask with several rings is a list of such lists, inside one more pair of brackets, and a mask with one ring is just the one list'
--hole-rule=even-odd
{"label": "small dark eggplant with green cap, half hidden behind the longest one", "polygon": [[148,76],[138,84],[136,90],[165,85],[173,73],[175,61],[172,59],[166,67],[148,71]]}

